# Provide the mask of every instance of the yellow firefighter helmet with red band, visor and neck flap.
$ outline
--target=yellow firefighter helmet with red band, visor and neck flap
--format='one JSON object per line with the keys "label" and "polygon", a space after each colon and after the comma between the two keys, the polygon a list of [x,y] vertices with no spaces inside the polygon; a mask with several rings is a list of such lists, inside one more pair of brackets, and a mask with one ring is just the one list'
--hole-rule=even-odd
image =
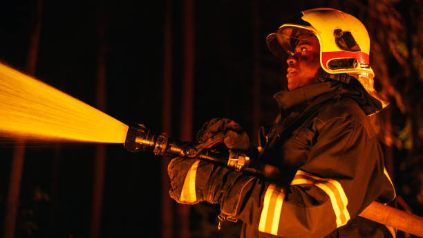
{"label": "yellow firefighter helmet with red band, visor and neck flap", "polygon": [[373,73],[369,63],[370,38],[359,19],[332,8],[314,8],[283,24],[276,33],[267,36],[267,47],[277,57],[294,54],[299,39],[316,37],[320,44],[320,65],[330,74],[347,73],[360,82],[370,95],[386,106],[373,88]]}

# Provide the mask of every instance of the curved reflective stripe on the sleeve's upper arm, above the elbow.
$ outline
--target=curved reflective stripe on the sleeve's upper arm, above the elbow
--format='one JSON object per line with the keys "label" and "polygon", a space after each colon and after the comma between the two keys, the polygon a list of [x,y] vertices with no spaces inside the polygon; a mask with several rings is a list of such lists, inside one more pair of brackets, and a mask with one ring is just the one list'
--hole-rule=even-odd
{"label": "curved reflective stripe on the sleeve's upper arm, above the elbow", "polygon": [[319,178],[312,174],[298,170],[292,180],[291,185],[311,184],[319,187],[323,192],[328,194],[330,203],[332,203],[332,209],[335,212],[337,218],[337,227],[344,226],[350,220],[350,213],[346,206],[348,205],[348,199],[341,186],[341,183],[335,179],[330,178]]}

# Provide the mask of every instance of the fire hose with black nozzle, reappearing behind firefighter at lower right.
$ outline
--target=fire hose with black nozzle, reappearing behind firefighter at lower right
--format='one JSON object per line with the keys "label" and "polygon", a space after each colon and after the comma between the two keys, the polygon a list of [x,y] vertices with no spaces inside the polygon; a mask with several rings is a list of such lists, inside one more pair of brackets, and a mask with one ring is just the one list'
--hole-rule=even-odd
{"label": "fire hose with black nozzle, reappearing behind firefighter at lower right", "polygon": [[[156,156],[182,156],[199,158],[220,163],[236,171],[257,172],[254,160],[256,155],[246,155],[236,149],[227,153],[218,152],[212,147],[223,141],[223,134],[216,134],[201,145],[174,140],[166,134],[155,134],[142,124],[129,127],[124,148],[129,152],[152,150]],[[360,214],[360,217],[397,228],[412,235],[423,237],[423,217],[410,214],[377,201],[373,201]]]}

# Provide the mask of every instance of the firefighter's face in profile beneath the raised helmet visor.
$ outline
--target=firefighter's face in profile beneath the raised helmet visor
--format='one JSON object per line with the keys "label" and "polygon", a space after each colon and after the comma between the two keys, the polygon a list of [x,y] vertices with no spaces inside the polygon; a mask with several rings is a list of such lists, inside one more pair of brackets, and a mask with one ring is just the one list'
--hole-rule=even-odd
{"label": "firefighter's face in profile beneath the raised helmet visor", "polygon": [[286,78],[288,89],[293,90],[316,82],[320,68],[320,45],[316,38],[300,39],[294,55],[288,57]]}

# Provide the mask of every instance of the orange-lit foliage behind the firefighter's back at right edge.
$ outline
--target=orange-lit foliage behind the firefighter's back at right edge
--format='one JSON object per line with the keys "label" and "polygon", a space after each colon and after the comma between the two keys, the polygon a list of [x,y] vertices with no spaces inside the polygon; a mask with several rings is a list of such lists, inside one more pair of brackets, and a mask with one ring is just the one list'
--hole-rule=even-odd
{"label": "orange-lit foliage behind the firefighter's back at right edge", "polygon": [[[423,5],[420,0],[371,0],[364,9],[371,37],[371,65],[381,93],[391,101],[383,140],[394,146],[397,191],[414,212],[423,205]],[[401,156],[401,157],[400,157]]]}

